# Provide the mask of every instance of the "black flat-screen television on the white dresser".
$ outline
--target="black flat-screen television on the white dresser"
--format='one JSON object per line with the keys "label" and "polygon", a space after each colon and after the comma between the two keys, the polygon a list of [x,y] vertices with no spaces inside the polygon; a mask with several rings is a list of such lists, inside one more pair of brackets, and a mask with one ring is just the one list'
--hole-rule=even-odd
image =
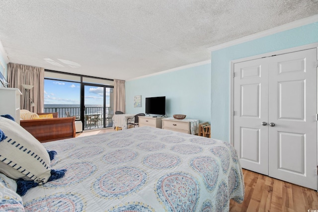
{"label": "black flat-screen television on the white dresser", "polygon": [[146,98],[146,114],[165,115],[165,96]]}

